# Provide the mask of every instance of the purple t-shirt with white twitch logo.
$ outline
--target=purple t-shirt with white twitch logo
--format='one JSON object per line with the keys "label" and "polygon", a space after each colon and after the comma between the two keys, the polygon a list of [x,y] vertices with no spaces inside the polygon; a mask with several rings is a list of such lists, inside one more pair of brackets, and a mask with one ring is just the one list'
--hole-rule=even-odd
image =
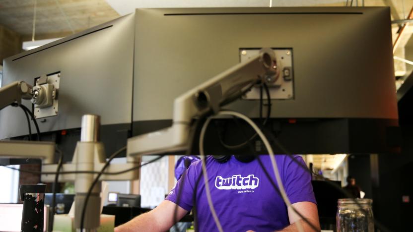
{"label": "purple t-shirt with white twitch logo", "polygon": [[[262,155],[260,158],[276,184],[270,156]],[[294,158],[305,165],[301,157]],[[286,155],[276,155],[275,160],[291,204],[302,201],[316,203],[311,175]],[[196,187],[201,174],[202,163],[197,161],[189,167],[185,175],[182,175],[166,200],[190,211],[194,206],[196,190],[200,231],[217,231],[207,202],[204,176],[201,176]],[[232,156],[228,162],[220,164],[209,156],[207,174],[213,206],[224,231],[274,231],[289,225],[287,207],[275,192],[257,160],[242,163]],[[177,202],[181,187],[181,197]]]}

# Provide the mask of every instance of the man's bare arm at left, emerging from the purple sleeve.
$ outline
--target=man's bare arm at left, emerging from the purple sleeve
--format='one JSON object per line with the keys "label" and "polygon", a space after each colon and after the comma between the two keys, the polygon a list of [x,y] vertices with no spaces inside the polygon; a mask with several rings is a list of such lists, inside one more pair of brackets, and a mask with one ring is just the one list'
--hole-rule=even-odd
{"label": "man's bare arm at left, emerging from the purple sleeve", "polygon": [[[115,232],[167,231],[174,225],[175,207],[176,204],[172,201],[164,200],[155,209],[115,228]],[[177,221],[187,213],[187,210],[178,206]]]}

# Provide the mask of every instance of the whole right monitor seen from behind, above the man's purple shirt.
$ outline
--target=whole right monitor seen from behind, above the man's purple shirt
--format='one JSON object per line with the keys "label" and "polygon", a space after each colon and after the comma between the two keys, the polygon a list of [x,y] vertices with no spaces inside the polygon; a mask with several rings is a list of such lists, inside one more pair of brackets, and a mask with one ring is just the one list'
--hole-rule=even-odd
{"label": "whole right monitor seen from behind, above the man's purple shirt", "polygon": [[[270,86],[267,128],[290,152],[399,151],[389,7],[137,9],[136,17],[133,135],[170,126],[176,97],[267,47],[290,83]],[[250,98],[225,108],[258,118],[259,107]],[[221,146],[218,133],[230,145],[246,140],[232,119],[210,127],[206,153],[251,152]]]}

